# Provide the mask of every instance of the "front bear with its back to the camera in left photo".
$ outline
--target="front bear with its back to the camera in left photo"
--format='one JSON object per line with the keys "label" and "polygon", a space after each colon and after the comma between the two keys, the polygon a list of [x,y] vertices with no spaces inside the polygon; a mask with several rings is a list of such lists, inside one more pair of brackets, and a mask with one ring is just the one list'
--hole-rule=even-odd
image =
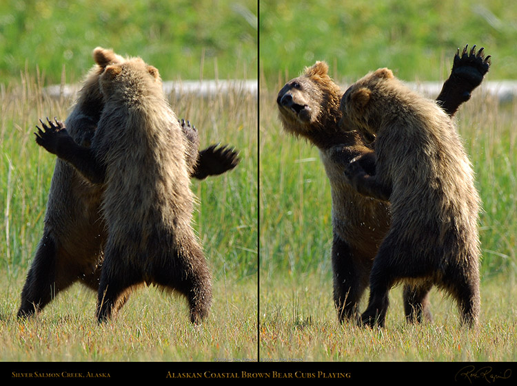
{"label": "front bear with its back to the camera in left photo", "polygon": [[64,125],[39,132],[38,143],[102,184],[107,229],[97,318],[109,319],[125,293],[154,283],[187,297],[190,320],[210,309],[210,272],[192,229],[194,196],[181,125],[159,73],[140,58],[108,65],[99,78],[104,108],[90,147]]}

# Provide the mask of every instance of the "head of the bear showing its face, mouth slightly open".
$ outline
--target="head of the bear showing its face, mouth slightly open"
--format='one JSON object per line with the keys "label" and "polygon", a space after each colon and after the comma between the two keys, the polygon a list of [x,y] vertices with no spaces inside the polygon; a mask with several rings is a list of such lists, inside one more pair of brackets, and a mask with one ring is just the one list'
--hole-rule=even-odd
{"label": "head of the bear showing its face, mouth slightly open", "polygon": [[286,131],[304,135],[321,129],[329,116],[339,114],[339,87],[328,75],[328,65],[318,61],[298,78],[285,83],[276,103]]}

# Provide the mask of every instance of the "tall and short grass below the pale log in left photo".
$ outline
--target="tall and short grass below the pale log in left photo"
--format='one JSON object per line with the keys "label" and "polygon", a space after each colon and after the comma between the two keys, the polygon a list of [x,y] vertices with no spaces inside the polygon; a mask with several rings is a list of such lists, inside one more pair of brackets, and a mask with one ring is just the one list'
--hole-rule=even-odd
{"label": "tall and short grass below the pale log in left photo", "polygon": [[171,100],[198,129],[201,146],[221,142],[241,162],[224,175],[194,180],[194,228],[212,270],[214,305],[201,328],[188,321],[185,299],[136,290],[119,317],[99,326],[96,296],[74,286],[34,320],[18,321],[21,288],[43,230],[55,157],[37,146],[39,118],[64,119],[72,100],[52,99],[35,74],[0,93],[0,349],[1,361],[214,361],[256,358],[258,193],[256,98]]}

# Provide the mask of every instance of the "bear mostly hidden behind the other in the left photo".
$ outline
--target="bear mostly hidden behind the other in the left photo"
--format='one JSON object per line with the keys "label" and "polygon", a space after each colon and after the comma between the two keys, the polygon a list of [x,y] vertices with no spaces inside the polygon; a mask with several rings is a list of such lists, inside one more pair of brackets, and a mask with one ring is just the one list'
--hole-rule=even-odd
{"label": "bear mostly hidden behind the other in the left photo", "polygon": [[[99,76],[109,63],[125,58],[97,47],[74,109],[65,121],[70,136],[88,147],[103,109]],[[190,122],[181,120],[191,177],[206,178],[233,169],[236,152],[212,145],[198,151],[199,136]],[[97,291],[103,259],[105,225],[99,214],[101,187],[91,184],[67,162],[56,161],[50,186],[43,237],[21,294],[19,317],[42,310],[61,290],[79,281]]]}

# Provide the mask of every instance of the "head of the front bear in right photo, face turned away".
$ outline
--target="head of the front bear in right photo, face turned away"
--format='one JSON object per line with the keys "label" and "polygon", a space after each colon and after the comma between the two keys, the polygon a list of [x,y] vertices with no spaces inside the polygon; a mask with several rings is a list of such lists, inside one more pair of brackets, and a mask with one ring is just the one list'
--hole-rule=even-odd
{"label": "head of the front bear in right photo, face turned away", "polygon": [[361,131],[370,140],[374,138],[383,114],[389,109],[386,97],[390,93],[386,85],[394,80],[390,69],[380,68],[351,85],[341,98],[340,109],[343,116],[339,127],[343,131]]}

